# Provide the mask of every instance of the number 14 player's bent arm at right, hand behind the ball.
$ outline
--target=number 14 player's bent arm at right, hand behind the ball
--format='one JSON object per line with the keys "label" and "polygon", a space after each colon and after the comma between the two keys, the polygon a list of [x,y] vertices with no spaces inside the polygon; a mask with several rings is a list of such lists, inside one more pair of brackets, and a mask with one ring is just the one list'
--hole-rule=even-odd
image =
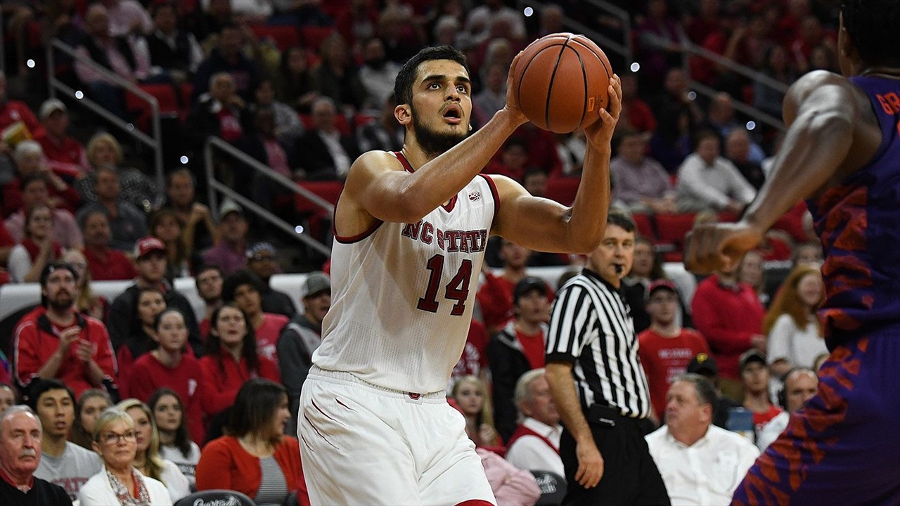
{"label": "number 14 player's bent arm at right, hand behind the ball", "polygon": [[608,110],[600,108],[599,121],[585,129],[588,149],[572,207],[531,196],[513,180],[494,176],[500,193],[496,233],[539,251],[589,253],[597,248],[609,209],[610,140],[622,110],[617,75],[610,80],[608,94]]}

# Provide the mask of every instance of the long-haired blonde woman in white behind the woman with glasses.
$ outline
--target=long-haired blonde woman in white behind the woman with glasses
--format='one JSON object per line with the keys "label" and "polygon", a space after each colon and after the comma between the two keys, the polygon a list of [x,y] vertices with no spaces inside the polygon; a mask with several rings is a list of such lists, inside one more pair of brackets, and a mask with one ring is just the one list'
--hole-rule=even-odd
{"label": "long-haired blonde woman in white behind the woman with glasses", "polygon": [[137,399],[126,399],[116,404],[116,407],[128,413],[131,420],[134,420],[134,434],[137,439],[134,467],[141,474],[166,485],[172,502],[190,493],[190,483],[178,466],[159,455],[159,432],[149,406]]}

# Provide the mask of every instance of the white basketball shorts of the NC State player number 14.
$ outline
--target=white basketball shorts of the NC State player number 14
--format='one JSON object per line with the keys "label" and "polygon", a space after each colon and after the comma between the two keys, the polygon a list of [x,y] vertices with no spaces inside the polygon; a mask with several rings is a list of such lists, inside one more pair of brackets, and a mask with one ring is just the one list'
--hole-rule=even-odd
{"label": "white basketball shorts of the NC State player number 14", "polygon": [[402,393],[313,366],[297,427],[312,504],[496,504],[444,392]]}

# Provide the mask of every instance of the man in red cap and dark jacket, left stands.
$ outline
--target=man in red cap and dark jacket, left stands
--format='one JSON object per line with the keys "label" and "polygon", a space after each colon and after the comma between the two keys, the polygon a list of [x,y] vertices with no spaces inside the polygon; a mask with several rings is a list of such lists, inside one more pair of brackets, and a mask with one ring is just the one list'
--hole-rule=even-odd
{"label": "man in red cap and dark jacket, left stands", "polygon": [[119,350],[129,336],[138,331],[140,322],[135,318],[138,294],[141,288],[158,288],[166,298],[166,306],[175,308],[184,314],[184,324],[188,330],[188,343],[198,355],[202,353],[202,340],[200,328],[197,326],[197,318],[193,314],[193,307],[184,295],[178,293],[166,280],[166,245],[163,241],[148,236],[139,239],[135,245],[134,266],[138,269],[138,277],[134,285],[130,285],[124,292],[112,301],[112,310],[108,319],[110,339],[112,347]]}

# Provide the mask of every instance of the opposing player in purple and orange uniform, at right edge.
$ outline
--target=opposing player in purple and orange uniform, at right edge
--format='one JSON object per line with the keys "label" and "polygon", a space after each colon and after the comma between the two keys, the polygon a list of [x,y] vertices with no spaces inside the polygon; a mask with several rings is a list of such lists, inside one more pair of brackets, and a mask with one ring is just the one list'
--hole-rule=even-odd
{"label": "opposing player in purple and orange uniform, at right edge", "polygon": [[707,225],[686,251],[695,271],[731,268],[806,197],[822,239],[831,356],[818,391],[760,456],[736,504],[900,502],[900,6],[843,0],[843,76],[790,87],[790,125],[743,219]]}

